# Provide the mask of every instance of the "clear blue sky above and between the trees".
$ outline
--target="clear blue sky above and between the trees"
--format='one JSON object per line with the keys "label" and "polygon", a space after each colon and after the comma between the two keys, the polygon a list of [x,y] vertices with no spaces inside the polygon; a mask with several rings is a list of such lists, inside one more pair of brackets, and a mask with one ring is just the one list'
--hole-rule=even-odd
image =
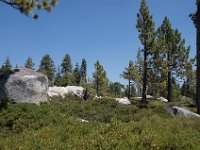
{"label": "clear blue sky above and between the trees", "polygon": [[[147,3],[156,26],[168,16],[191,45],[194,56],[195,28],[188,16],[196,9],[195,0]],[[111,81],[126,84],[120,73],[142,48],[135,27],[139,6],[140,0],[59,0],[51,13],[41,11],[36,21],[0,3],[0,65],[7,56],[13,66],[24,65],[31,56],[37,68],[41,58],[50,54],[59,66],[69,53],[74,65],[86,58],[89,77],[98,59]]]}

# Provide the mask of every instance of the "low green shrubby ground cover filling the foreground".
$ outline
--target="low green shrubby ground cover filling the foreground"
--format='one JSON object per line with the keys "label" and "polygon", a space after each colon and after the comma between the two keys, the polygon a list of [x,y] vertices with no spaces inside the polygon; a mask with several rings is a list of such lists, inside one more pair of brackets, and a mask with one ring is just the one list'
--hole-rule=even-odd
{"label": "low green shrubby ground cover filling the foreground", "polygon": [[200,149],[200,120],[173,117],[165,107],[72,97],[40,106],[8,104],[0,112],[0,149]]}

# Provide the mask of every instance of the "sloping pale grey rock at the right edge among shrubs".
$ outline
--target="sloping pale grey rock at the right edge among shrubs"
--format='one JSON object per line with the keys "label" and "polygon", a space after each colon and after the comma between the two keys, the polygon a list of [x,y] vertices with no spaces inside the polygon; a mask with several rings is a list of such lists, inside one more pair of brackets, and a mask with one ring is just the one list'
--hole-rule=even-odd
{"label": "sloping pale grey rock at the right edge among shrubs", "polygon": [[182,107],[178,107],[178,106],[169,107],[168,112],[171,113],[172,115],[181,115],[181,116],[185,116],[188,118],[191,118],[191,117],[200,118],[199,114],[193,113],[193,112],[187,110],[186,108],[182,108]]}

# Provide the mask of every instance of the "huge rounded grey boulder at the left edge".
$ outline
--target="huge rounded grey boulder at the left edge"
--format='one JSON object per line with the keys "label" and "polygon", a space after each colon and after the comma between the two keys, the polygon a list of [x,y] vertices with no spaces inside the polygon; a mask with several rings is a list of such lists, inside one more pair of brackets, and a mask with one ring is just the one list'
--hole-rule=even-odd
{"label": "huge rounded grey boulder at the left edge", "polygon": [[39,104],[47,100],[47,90],[47,77],[31,69],[16,68],[0,75],[0,99]]}

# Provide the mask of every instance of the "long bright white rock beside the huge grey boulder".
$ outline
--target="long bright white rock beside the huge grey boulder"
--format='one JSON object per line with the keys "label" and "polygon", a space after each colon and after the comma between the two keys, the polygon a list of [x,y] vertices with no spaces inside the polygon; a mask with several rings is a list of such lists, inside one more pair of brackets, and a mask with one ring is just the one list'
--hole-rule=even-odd
{"label": "long bright white rock beside the huge grey boulder", "polygon": [[67,86],[67,87],[49,87],[48,90],[48,96],[62,96],[64,97],[65,95],[73,95],[82,98],[84,95],[84,88],[81,86]]}

